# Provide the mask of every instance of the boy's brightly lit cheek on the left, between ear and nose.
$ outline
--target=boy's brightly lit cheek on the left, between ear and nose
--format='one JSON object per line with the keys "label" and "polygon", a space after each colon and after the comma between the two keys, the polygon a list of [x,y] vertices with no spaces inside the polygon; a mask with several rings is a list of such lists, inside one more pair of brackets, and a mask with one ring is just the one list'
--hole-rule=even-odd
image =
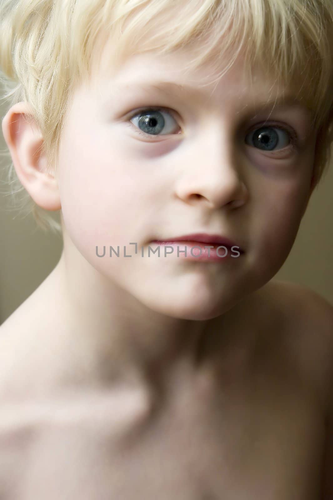
{"label": "boy's brightly lit cheek on the left, between ear and nose", "polygon": [[[66,229],[77,247],[128,239],[128,219],[135,212],[137,183],[122,174],[115,154],[73,151],[59,164],[59,190]],[[132,218],[132,217],[131,217]],[[127,229],[127,230],[126,230]],[[110,240],[111,238],[111,240]],[[91,250],[89,250],[90,252]]]}

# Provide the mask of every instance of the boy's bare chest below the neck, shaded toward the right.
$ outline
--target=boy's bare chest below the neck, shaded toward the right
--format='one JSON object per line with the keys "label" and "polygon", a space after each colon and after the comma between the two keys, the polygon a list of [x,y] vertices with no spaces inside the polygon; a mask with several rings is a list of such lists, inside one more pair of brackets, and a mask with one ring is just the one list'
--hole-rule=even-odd
{"label": "boy's bare chest below the neck, shaded toward the right", "polygon": [[22,439],[2,441],[2,466],[19,472],[3,499],[317,500],[324,435],[301,386],[238,380],[196,396],[136,420],[129,398],[31,406]]}

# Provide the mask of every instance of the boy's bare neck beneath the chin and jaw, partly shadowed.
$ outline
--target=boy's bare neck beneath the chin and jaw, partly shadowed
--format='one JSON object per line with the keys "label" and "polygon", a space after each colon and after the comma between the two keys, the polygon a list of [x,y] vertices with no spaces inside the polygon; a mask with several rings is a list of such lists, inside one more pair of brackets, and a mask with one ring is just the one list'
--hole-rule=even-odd
{"label": "boy's bare neck beneath the chin and jaw, partly shadowed", "polygon": [[82,383],[157,389],[170,385],[171,378],[174,384],[188,379],[205,365],[209,332],[216,331],[219,318],[179,319],[148,309],[78,252],[62,252],[51,283],[65,311],[66,348],[80,372],[84,363]]}

